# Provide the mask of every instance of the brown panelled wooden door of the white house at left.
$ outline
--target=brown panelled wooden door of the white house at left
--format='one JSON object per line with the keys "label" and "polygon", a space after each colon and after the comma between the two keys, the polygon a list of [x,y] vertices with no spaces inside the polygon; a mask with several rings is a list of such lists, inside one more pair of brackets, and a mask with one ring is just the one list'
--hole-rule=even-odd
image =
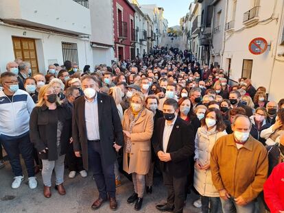
{"label": "brown panelled wooden door of the white house at left", "polygon": [[38,73],[36,42],[32,38],[12,37],[15,58],[21,58],[31,64],[32,73]]}

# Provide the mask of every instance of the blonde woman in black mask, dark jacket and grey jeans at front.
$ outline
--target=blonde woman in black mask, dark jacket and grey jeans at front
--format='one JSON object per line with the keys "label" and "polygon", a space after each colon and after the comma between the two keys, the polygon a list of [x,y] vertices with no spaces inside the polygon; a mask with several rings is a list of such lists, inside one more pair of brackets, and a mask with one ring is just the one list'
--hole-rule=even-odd
{"label": "blonde woman in black mask, dark jacket and grey jeans at front", "polygon": [[72,116],[62,105],[52,84],[40,88],[38,103],[29,120],[29,136],[43,160],[43,195],[51,197],[51,175],[56,173],[56,190],[65,195],[64,159],[71,138]]}

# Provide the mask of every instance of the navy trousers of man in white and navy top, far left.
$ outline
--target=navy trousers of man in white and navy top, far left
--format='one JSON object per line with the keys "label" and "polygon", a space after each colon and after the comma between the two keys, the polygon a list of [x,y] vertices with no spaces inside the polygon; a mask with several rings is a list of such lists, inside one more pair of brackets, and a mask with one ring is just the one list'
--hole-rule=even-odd
{"label": "navy trousers of man in white and navy top, far left", "polygon": [[0,134],[0,143],[8,154],[15,176],[23,176],[20,153],[22,154],[28,177],[34,177],[34,145],[29,140],[29,131],[20,136]]}

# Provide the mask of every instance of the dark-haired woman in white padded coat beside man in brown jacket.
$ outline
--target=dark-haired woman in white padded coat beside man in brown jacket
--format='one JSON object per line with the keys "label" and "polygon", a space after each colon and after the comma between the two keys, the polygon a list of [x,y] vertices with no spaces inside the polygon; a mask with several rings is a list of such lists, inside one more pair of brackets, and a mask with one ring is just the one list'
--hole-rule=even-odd
{"label": "dark-haired woman in white padded coat beside man in brown jacket", "polygon": [[210,155],[218,138],[226,135],[226,125],[220,110],[209,108],[201,120],[201,127],[196,133],[196,151],[194,160],[194,187],[201,195],[202,213],[222,212],[219,192],[213,185],[210,170]]}

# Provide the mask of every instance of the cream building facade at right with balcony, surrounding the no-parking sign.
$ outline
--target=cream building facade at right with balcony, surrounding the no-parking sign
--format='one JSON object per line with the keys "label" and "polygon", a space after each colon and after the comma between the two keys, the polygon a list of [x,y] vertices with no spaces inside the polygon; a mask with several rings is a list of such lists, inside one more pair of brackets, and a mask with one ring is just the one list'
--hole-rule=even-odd
{"label": "cream building facade at right with balcony, surrounding the no-parking sign", "polygon": [[[283,6],[282,0],[228,1],[222,53],[221,67],[229,71],[230,79],[248,77],[256,88],[267,88],[274,101],[283,98]],[[268,42],[268,49],[254,55],[249,44],[259,37]]]}

